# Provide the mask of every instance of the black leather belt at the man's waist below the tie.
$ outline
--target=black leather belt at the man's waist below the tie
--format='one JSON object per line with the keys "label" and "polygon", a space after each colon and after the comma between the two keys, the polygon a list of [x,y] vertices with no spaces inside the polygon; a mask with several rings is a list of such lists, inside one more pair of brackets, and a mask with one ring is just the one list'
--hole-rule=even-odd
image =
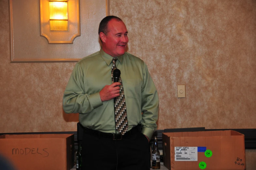
{"label": "black leather belt at the man's waist below the tie", "polygon": [[104,137],[104,138],[111,138],[113,140],[121,140],[123,138],[129,138],[133,134],[138,133],[139,132],[139,125],[133,127],[130,131],[125,132],[124,135],[115,134],[115,133],[105,133],[105,132],[101,132],[101,131],[95,131],[95,130],[88,129],[88,128],[85,128],[85,127],[83,129],[84,129],[84,133],[87,133],[87,134],[91,134],[91,135],[99,136],[99,137]]}

